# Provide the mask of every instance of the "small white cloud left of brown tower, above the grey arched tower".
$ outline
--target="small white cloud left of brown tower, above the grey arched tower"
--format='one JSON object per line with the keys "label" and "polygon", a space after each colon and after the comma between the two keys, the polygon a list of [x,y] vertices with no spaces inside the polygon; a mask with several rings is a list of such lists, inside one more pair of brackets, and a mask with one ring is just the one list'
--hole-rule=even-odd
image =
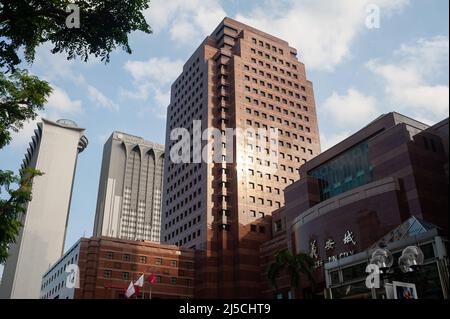
{"label": "small white cloud left of brown tower, above the grey arched tower", "polygon": [[168,58],[150,58],[147,61],[127,61],[125,70],[135,81],[153,80],[162,84],[174,81],[183,69],[183,61]]}

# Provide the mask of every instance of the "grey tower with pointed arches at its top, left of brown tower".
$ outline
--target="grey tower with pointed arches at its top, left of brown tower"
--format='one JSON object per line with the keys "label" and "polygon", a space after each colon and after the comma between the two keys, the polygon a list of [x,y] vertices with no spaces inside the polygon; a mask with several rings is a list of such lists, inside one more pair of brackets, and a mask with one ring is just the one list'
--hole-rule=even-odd
{"label": "grey tower with pointed arches at its top, left of brown tower", "polygon": [[94,236],[161,241],[164,146],[114,132],[103,148]]}

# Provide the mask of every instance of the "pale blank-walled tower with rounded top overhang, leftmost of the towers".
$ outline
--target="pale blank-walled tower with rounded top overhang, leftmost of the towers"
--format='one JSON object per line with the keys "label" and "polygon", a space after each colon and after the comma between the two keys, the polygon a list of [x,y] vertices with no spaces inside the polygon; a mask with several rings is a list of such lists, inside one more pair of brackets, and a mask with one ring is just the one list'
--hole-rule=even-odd
{"label": "pale blank-walled tower with rounded top overhang, leftmost of the towers", "polygon": [[9,247],[1,299],[38,299],[42,275],[64,252],[78,154],[88,145],[85,130],[69,120],[38,123],[22,168],[44,173],[33,181],[23,228]]}

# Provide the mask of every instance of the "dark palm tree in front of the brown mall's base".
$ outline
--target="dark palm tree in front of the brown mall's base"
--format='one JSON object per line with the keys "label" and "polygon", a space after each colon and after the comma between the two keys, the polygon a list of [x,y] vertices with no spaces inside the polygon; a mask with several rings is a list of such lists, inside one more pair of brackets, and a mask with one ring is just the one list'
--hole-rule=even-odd
{"label": "dark palm tree in front of the brown mall's base", "polygon": [[298,288],[301,273],[307,275],[311,284],[314,285],[313,269],[314,260],[308,254],[293,255],[289,250],[285,249],[275,254],[275,261],[269,266],[267,277],[272,287],[277,290],[277,278],[285,270],[290,277],[292,298],[295,299],[295,292]]}

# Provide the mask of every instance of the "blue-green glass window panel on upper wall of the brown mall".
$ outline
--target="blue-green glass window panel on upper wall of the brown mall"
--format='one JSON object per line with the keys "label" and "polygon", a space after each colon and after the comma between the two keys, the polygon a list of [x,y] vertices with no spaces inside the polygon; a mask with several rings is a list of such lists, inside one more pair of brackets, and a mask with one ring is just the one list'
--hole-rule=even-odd
{"label": "blue-green glass window panel on upper wall of the brown mall", "polygon": [[367,141],[311,170],[309,175],[319,181],[321,201],[372,182],[373,165]]}

